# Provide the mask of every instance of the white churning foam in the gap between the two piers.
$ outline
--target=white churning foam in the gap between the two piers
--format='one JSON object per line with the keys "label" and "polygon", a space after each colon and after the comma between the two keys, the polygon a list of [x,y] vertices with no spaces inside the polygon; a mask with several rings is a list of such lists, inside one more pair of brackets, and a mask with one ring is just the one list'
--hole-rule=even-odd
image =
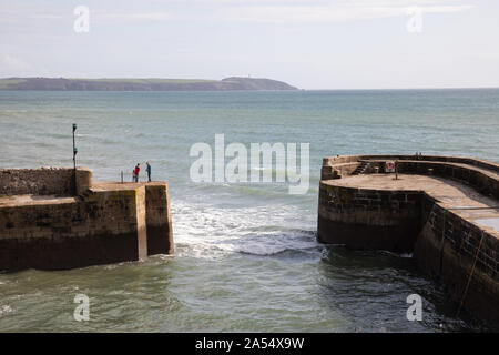
{"label": "white churning foam in the gap between the two piers", "polygon": [[296,215],[299,211],[293,205],[234,209],[175,201],[176,255],[213,258],[316,247],[313,227]]}

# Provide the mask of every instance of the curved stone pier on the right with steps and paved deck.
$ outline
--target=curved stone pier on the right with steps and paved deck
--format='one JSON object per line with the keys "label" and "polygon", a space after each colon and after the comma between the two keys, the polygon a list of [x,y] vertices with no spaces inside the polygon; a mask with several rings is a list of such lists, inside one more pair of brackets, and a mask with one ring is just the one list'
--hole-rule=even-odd
{"label": "curved stone pier on the right with steps and paved deck", "polygon": [[[396,163],[397,180],[387,163]],[[458,156],[326,158],[317,239],[414,253],[457,310],[499,328],[499,164]]]}

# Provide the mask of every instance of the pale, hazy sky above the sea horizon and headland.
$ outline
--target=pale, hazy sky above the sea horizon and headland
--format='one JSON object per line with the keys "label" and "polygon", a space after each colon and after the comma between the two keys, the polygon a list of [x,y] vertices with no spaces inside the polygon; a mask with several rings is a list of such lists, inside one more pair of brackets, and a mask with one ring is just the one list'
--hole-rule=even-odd
{"label": "pale, hazy sky above the sea horizon and headland", "polygon": [[498,18],[497,0],[0,0],[0,78],[499,87]]}

